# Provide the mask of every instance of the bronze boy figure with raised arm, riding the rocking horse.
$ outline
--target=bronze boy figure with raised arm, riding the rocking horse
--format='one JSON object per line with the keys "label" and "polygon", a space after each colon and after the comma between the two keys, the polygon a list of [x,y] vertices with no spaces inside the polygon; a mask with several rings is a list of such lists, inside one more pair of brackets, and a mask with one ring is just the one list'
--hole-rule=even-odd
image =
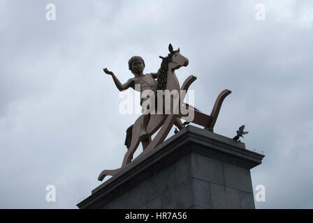
{"label": "bronze boy figure with raised arm, riding the rocking horse", "polygon": [[[119,82],[119,79],[115,76],[115,74],[108,70],[107,68],[104,68],[103,71],[111,75],[113,78],[113,81],[115,85],[117,86],[117,89],[119,91],[124,91],[126,89],[129,89],[131,87],[132,89],[138,91],[138,89],[135,88],[136,84],[140,85],[140,105],[143,106],[143,102],[149,98],[143,98],[142,94],[143,91],[150,90],[154,95],[157,95],[157,82],[155,79],[158,77],[158,73],[150,73],[150,74],[143,74],[143,69],[145,68],[145,61],[143,61],[143,58],[140,56],[132,56],[131,59],[129,59],[129,70],[133,73],[134,77],[129,79],[125,84],[121,84]],[[143,107],[143,125],[140,129],[140,139],[141,140],[147,140],[149,137],[149,133],[147,132],[147,125],[150,121],[150,113],[147,113],[145,109],[150,109],[149,105],[146,107]]]}

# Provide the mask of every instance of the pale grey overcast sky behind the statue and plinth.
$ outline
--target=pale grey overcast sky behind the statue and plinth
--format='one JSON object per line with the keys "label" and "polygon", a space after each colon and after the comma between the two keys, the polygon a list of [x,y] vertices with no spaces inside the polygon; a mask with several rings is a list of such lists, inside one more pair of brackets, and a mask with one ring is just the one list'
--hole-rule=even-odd
{"label": "pale grey overcast sky behind the statue and plinth", "polygon": [[[247,149],[264,153],[251,171],[254,192],[266,189],[256,208],[313,208],[312,1],[0,0],[0,20],[0,208],[76,208],[103,169],[120,167],[138,114],[119,114],[102,69],[126,82],[140,55],[156,72],[169,43],[189,59],[180,83],[198,77],[198,109],[233,92],[214,132],[245,124]],[[57,201],[45,200],[47,185]]]}

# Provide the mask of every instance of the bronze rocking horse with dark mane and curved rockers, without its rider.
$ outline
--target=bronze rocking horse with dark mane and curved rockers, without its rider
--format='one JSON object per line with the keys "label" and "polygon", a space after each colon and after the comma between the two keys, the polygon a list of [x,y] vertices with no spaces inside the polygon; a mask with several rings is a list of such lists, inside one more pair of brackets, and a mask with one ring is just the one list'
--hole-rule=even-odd
{"label": "bronze rocking horse with dark mane and curved rockers, without its rider", "polygon": [[[168,56],[160,56],[162,59],[162,63],[157,79],[158,90],[177,91],[180,97],[178,105],[174,105],[174,103],[171,103],[169,114],[164,114],[164,112],[163,114],[151,114],[149,123],[147,124],[147,139],[142,139],[140,137],[140,128],[143,125],[144,115],[140,116],[135,121],[135,123],[131,125],[131,127],[126,131],[126,146],[128,147],[128,151],[124,155],[122,167],[118,169],[103,170],[99,175],[98,180],[103,180],[105,176],[114,176],[119,171],[124,169],[130,162],[132,162],[133,153],[135,153],[140,142],[143,144],[143,152],[140,153],[138,157],[141,157],[142,155],[148,153],[153,148],[161,144],[161,142],[166,139],[168,132],[170,132],[173,125],[176,125],[180,130],[184,128],[180,121],[180,118],[201,125],[205,128],[205,130],[213,130],[214,125],[217,121],[217,116],[219,115],[219,110],[221,109],[221,105],[226,96],[229,95],[231,91],[226,89],[219,93],[210,115],[204,114],[195,107],[184,103],[184,97],[186,95],[186,92],[188,91],[189,86],[196,80],[196,77],[194,77],[193,75],[189,76],[180,87],[180,83],[178,82],[178,79],[175,75],[175,70],[181,68],[182,66],[188,66],[189,61],[186,57],[180,54],[179,48],[177,50],[173,50],[172,45],[169,45],[168,50],[170,52]],[[194,112],[194,118],[192,120],[188,120],[187,114],[184,114],[182,108],[189,110],[191,109],[192,111],[190,111]],[[158,130],[159,132],[157,132]],[[157,132],[157,135],[154,137],[154,139],[152,139],[152,135],[155,132]],[[136,159],[138,157],[136,157]]]}

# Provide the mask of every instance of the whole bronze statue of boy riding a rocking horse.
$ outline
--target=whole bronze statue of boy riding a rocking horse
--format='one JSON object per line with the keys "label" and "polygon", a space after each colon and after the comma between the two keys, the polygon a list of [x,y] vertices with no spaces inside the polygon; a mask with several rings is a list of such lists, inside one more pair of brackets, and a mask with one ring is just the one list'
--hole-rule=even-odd
{"label": "whole bronze statue of boy riding a rocking horse", "polygon": [[[129,60],[129,70],[133,72],[134,77],[129,79],[125,84],[121,84],[113,72],[109,71],[107,68],[103,69],[106,74],[112,75],[115,85],[119,91],[123,91],[129,87],[136,89],[135,85],[139,84],[141,89],[140,95],[144,90],[152,91],[154,94],[157,93],[158,90],[168,90],[170,92],[179,92],[178,95],[180,95],[180,98],[178,106],[173,105],[173,103],[170,104],[169,114],[164,113],[164,111],[162,114],[145,114],[145,109],[143,107],[144,114],[140,116],[136,122],[126,130],[125,144],[128,148],[128,151],[124,155],[122,167],[113,170],[103,170],[99,175],[98,180],[103,180],[105,176],[114,176],[119,171],[124,169],[124,167],[126,167],[126,165],[129,164],[133,159],[133,153],[135,153],[140,142],[143,144],[143,153],[141,153],[139,156],[151,151],[164,139],[166,139],[166,136],[168,135],[168,132],[173,127],[173,125],[176,125],[179,130],[184,128],[180,118],[185,120],[187,119],[187,122],[184,123],[185,125],[187,125],[189,122],[192,122],[198,125],[202,125],[206,130],[213,130],[213,127],[217,121],[221,104],[224,98],[226,98],[226,96],[230,94],[231,91],[221,91],[214,103],[214,107],[210,116],[203,114],[198,109],[188,105],[187,103],[184,103],[184,97],[186,94],[182,92],[187,92],[189,86],[196,80],[196,77],[193,75],[189,76],[180,87],[180,83],[178,82],[178,79],[175,75],[175,70],[181,68],[182,66],[188,66],[189,61],[186,57],[180,54],[179,48],[177,50],[173,50],[172,45],[169,45],[168,50],[170,52],[168,56],[160,56],[162,63],[158,72],[147,75],[143,74],[143,69],[145,68],[145,62],[143,59],[140,56],[133,56]],[[154,79],[157,79],[157,82]],[[143,106],[145,100],[146,98],[140,100],[140,105]],[[188,120],[187,114],[182,112],[182,108],[191,109],[191,111],[194,112],[194,118],[192,120]],[[159,132],[154,137],[154,139],[152,139],[152,134],[157,132],[157,130],[159,130]]]}

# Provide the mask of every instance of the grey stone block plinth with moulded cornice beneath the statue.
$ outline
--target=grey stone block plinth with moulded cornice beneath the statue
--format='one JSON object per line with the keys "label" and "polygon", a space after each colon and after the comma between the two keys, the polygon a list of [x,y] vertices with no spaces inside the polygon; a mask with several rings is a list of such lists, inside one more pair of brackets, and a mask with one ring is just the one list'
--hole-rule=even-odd
{"label": "grey stone block plinth with moulded cornice beneath the statue", "polygon": [[264,155],[187,126],[129,164],[78,208],[255,208],[250,169]]}

